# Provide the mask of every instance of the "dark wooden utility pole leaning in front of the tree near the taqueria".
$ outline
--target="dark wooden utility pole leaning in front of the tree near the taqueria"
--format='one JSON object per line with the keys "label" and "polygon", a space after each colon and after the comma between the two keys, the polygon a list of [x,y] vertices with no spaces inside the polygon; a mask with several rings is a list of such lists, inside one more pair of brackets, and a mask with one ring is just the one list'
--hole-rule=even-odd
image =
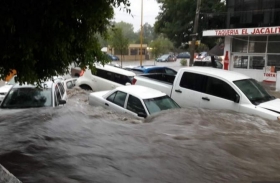
{"label": "dark wooden utility pole leaning in front of the tree near the taqueria", "polygon": [[201,6],[201,0],[197,0],[195,19],[194,19],[194,25],[193,25],[193,34],[191,34],[192,43],[191,43],[190,66],[192,66],[193,60],[194,60],[195,42],[196,42],[196,37],[198,35],[197,29],[198,29],[198,23],[199,23],[198,21],[199,21],[200,6]]}

